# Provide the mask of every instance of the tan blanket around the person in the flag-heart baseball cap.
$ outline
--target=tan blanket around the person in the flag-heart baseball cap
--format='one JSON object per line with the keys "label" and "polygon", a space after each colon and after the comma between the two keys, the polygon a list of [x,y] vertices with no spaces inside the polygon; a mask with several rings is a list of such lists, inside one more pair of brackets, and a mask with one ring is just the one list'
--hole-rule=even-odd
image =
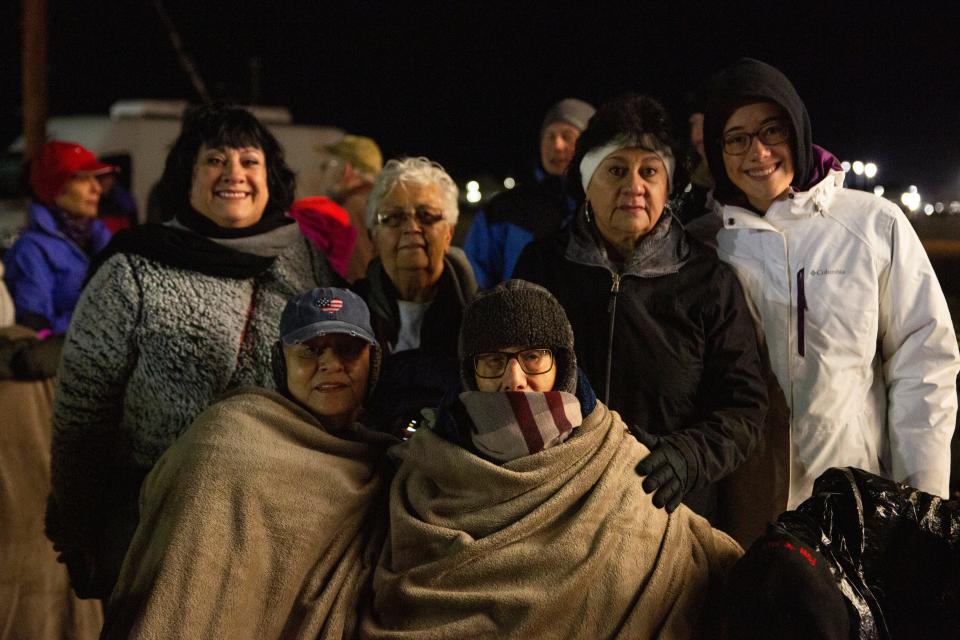
{"label": "tan blanket around the person in the flag-heart baseball cap", "polygon": [[207,409],[144,482],[104,637],[354,636],[395,442],[357,429],[333,436],[265,389]]}

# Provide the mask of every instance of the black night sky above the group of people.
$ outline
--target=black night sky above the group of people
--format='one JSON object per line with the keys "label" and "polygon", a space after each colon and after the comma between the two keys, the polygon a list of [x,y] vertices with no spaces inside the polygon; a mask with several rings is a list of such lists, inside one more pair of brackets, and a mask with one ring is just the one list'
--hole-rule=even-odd
{"label": "black night sky above the group of people", "polygon": [[[196,99],[153,3],[49,6],[51,113],[106,113],[120,98]],[[742,55],[797,85],[814,140],[880,165],[880,182],[960,197],[956,3],[263,2],[166,0],[201,75],[298,121],[376,138],[455,174],[522,171],[555,100],[684,93]],[[82,7],[82,8],[81,8]],[[20,125],[19,3],[3,23],[0,144]]]}

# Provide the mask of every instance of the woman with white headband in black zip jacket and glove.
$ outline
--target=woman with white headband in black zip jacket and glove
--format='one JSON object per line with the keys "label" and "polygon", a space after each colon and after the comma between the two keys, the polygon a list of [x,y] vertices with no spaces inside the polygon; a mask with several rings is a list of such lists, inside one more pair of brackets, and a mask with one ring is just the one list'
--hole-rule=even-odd
{"label": "woman with white headband in black zip jacket and glove", "polygon": [[574,223],[529,245],[514,277],[566,309],[580,366],[652,451],[637,472],[654,504],[717,523],[714,483],[753,450],[767,391],[737,279],[673,217],[675,148],[656,100],[603,105],[567,173]]}

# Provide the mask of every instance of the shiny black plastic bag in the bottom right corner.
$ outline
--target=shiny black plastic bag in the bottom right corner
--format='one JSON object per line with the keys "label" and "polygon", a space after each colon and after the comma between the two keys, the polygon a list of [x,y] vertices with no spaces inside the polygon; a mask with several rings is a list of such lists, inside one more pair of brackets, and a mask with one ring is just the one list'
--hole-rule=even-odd
{"label": "shiny black plastic bag in the bottom right corner", "polygon": [[960,637],[960,501],[829,469],[812,497],[771,526],[829,560],[853,637]]}

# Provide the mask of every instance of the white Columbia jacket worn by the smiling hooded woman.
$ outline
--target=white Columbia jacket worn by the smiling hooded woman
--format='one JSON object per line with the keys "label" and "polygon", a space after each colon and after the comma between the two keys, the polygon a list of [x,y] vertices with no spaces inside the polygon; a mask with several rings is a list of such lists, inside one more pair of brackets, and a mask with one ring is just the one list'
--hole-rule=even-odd
{"label": "white Columbia jacket worn by the smiling hooded woman", "polygon": [[764,216],[715,205],[717,252],[791,409],[789,509],[837,466],[948,492],[960,370],[950,312],[900,209],[843,177],[831,171]]}

